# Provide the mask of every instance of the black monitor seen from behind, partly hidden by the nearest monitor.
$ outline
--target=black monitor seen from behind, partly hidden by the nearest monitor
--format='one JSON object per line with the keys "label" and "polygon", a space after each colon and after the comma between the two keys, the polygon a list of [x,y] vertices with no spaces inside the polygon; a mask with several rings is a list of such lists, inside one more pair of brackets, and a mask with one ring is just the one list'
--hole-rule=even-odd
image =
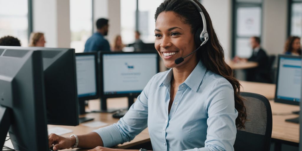
{"label": "black monitor seen from behind, partly hidden by the nearest monitor", "polygon": [[31,49],[42,51],[48,124],[79,125],[75,50],[45,47]]}

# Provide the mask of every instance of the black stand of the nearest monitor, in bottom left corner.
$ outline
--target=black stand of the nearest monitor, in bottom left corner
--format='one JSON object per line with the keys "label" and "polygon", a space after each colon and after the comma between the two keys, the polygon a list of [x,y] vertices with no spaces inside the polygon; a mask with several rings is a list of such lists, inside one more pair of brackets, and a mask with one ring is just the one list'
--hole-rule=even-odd
{"label": "black stand of the nearest monitor, in bottom left corner", "polygon": [[3,148],[6,135],[11,126],[10,109],[0,105],[0,149]]}

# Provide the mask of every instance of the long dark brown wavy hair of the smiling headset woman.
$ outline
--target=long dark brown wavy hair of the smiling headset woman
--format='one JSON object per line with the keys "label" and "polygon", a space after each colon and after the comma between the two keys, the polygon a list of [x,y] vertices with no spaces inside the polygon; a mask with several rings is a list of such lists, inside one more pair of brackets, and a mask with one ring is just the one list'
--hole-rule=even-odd
{"label": "long dark brown wavy hair of the smiling headset woman", "polygon": [[[216,36],[209,14],[199,2],[196,0],[194,0],[194,2],[199,5],[204,13],[207,22],[207,32],[209,34],[209,40],[200,48],[201,51],[197,51],[197,55],[207,69],[223,76],[232,84],[234,89],[235,108],[238,111],[236,127],[239,129],[245,128],[246,108],[243,103],[244,99],[240,96],[240,83],[233,77],[233,70],[224,61],[223,48]],[[166,0],[156,9],[155,21],[158,15],[163,11],[173,11],[183,17],[183,22],[191,25],[191,32],[193,34],[196,33],[198,28],[203,27],[201,16],[197,8],[188,0]],[[196,43],[196,46],[198,46],[198,43]]]}

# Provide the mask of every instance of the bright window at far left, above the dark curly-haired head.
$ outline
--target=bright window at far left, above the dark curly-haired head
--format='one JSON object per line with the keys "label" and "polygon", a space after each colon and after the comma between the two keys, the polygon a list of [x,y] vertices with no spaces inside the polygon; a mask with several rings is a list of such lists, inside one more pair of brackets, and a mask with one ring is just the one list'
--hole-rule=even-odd
{"label": "bright window at far left, above the dark curly-haired head", "polygon": [[0,0],[0,37],[13,36],[28,46],[28,1]]}

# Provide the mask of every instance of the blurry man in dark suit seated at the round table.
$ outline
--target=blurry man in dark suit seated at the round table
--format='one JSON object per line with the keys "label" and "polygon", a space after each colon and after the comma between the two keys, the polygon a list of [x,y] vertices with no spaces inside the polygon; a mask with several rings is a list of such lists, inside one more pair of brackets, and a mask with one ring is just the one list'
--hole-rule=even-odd
{"label": "blurry man in dark suit seated at the round table", "polygon": [[266,82],[266,73],[264,71],[268,70],[268,56],[260,47],[260,38],[259,37],[251,37],[250,43],[252,47],[252,56],[249,59],[239,58],[237,56],[234,57],[234,61],[253,61],[257,62],[258,66],[253,69],[246,70],[246,80],[254,81],[254,82]]}

